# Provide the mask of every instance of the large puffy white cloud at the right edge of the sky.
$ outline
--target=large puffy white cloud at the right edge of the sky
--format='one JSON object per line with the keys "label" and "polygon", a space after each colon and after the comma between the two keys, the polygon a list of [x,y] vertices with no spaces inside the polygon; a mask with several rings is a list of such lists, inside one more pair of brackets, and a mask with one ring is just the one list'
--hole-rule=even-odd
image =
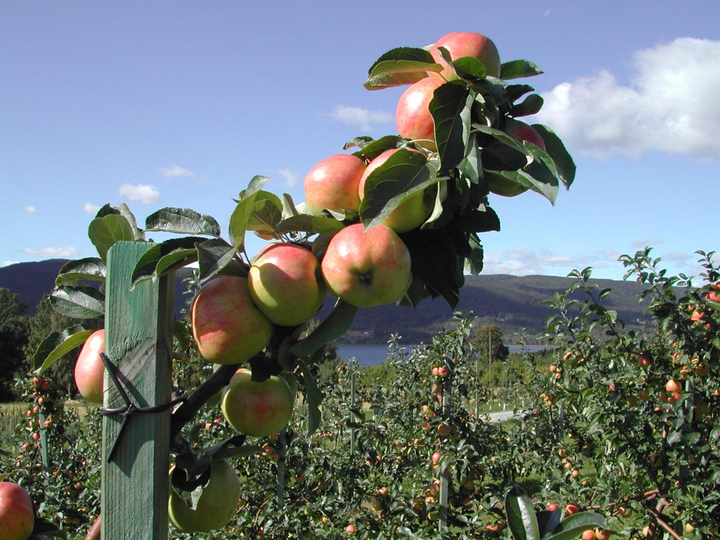
{"label": "large puffy white cloud at the right edge of the sky", "polygon": [[608,71],[542,94],[537,120],[598,158],[720,155],[720,41],[680,37],[634,54],[629,86]]}

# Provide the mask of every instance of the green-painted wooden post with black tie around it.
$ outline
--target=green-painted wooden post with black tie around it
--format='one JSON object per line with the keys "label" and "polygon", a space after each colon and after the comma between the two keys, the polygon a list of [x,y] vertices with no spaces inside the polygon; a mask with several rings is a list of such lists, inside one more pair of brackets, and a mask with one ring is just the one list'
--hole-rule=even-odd
{"label": "green-painted wooden post with black tie around it", "polygon": [[[130,290],[132,269],[153,246],[118,242],[107,253],[105,353],[117,366],[125,392],[137,407],[165,405],[171,394],[174,275]],[[105,408],[125,405],[105,374]],[[170,410],[138,412],[102,421],[102,539],[166,540]]]}

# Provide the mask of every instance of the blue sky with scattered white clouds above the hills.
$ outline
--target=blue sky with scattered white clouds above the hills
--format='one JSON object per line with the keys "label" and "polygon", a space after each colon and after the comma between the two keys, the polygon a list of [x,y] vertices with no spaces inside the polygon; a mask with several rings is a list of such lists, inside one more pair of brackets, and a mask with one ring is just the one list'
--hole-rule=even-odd
{"label": "blue sky with scattered white clouds above the hills", "polygon": [[[620,279],[647,245],[697,274],[720,248],[716,1],[24,2],[0,4],[0,265],[93,256],[109,202],[226,224],[256,174],[302,179],[357,135],[395,133],[404,88],[366,91],[386,50],[481,32],[545,71],[533,121],[577,163],[552,207],[491,196],[485,272]],[[249,236],[248,236],[248,240]],[[248,252],[261,246],[248,242]]]}

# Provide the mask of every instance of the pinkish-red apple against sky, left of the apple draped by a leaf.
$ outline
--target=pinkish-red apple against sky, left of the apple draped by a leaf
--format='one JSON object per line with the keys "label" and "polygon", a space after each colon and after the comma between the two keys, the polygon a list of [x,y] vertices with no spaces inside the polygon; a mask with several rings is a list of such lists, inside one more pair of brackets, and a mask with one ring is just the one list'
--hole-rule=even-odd
{"label": "pinkish-red apple against sky, left of the apple draped by a leaf", "polygon": [[351,154],[336,154],[316,163],[305,175],[305,202],[312,212],[334,212],[360,207],[358,184],[365,162]]}

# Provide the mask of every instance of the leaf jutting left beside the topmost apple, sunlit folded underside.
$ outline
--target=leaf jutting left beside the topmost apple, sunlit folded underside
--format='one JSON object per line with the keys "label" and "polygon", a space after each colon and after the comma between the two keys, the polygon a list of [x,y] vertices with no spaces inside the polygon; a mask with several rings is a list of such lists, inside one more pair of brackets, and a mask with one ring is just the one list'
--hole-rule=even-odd
{"label": "leaf jutting left beside the topmost apple, sunlit folded underside", "polygon": [[368,71],[363,86],[379,90],[390,86],[413,84],[428,76],[428,71],[442,71],[426,50],[410,47],[395,48],[378,58]]}

